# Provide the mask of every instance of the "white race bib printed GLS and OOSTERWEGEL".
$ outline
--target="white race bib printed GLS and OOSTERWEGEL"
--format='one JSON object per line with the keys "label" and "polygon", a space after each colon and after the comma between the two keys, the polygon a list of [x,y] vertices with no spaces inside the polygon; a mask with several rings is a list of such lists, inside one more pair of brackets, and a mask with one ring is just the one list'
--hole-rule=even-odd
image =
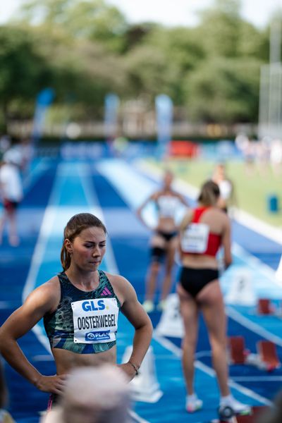
{"label": "white race bib printed GLS and OOSTERWEGEL", "polygon": [[118,304],[116,298],[98,298],[71,303],[75,343],[116,341]]}

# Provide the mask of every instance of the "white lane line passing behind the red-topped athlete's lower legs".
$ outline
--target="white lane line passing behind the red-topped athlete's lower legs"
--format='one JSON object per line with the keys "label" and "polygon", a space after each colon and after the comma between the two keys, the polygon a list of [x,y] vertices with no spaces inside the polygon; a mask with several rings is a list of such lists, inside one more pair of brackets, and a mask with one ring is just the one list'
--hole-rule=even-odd
{"label": "white lane line passing behind the red-topped athlete's lower legs", "polygon": [[[169,341],[168,339],[166,339],[162,336],[155,335],[155,334],[153,335],[153,338],[154,338],[155,341],[157,341],[158,343],[163,345],[164,348],[166,348],[169,351],[171,351],[172,353],[176,354],[179,358],[181,357],[181,355],[182,355],[181,348],[174,345],[171,341]],[[211,367],[208,367],[206,364],[203,364],[202,362],[200,362],[198,360],[195,361],[195,367],[197,367],[197,369],[202,370],[202,372],[209,374],[209,376],[216,377],[214,369],[212,369]],[[271,405],[272,404],[271,401],[269,401],[267,398],[264,398],[263,396],[260,396],[259,394],[251,391],[250,389],[245,388],[245,386],[241,386],[240,384],[237,384],[232,379],[228,380],[228,385],[231,386],[231,388],[235,388],[237,391],[240,391],[240,393],[245,394],[245,396],[248,396],[248,397],[250,397],[254,400],[259,401],[259,403],[262,403],[264,405]]]}

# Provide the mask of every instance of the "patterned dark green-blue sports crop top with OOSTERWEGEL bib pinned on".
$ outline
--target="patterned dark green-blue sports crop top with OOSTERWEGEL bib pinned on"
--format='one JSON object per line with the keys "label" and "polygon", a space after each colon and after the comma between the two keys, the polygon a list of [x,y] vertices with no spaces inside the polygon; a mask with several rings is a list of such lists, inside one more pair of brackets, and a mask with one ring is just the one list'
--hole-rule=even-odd
{"label": "patterned dark green-blue sports crop top with OOSTERWEGEL bib pinned on", "polygon": [[59,306],[43,318],[51,348],[96,354],[116,345],[121,303],[104,271],[98,272],[99,286],[89,292],[75,288],[64,272],[58,275]]}

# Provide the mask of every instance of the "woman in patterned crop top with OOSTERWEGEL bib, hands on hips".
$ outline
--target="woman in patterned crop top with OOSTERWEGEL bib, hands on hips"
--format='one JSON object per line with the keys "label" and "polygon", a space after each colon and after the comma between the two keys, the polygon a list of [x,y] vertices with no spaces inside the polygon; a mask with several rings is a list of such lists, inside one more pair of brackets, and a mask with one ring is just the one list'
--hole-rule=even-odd
{"label": "woman in patterned crop top with OOSTERWEGEL bib, hands on hips", "polygon": [[[152,338],[152,324],[133,286],[122,276],[99,270],[106,252],[106,228],[96,216],[76,214],[64,230],[63,272],[35,289],[0,329],[6,361],[40,391],[61,395],[75,367],[116,363],[121,310],[135,328],[133,352],[121,368],[133,379]],[[44,319],[56,375],[44,376],[27,360],[17,339]]]}

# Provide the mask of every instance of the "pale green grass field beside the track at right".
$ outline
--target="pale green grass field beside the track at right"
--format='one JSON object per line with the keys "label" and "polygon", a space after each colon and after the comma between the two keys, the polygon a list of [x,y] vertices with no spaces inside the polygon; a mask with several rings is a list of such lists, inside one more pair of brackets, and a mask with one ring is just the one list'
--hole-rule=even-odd
{"label": "pale green grass field beside the track at right", "polygon": [[[215,162],[201,160],[170,160],[166,163],[149,161],[153,166],[170,168],[178,178],[191,185],[200,185],[211,178]],[[282,228],[282,173],[276,175],[270,166],[259,170],[257,166],[250,169],[240,161],[226,163],[228,178],[233,180],[235,195],[240,209],[245,210],[259,219]],[[276,195],[280,202],[278,213],[271,213],[268,209],[269,195]]]}

